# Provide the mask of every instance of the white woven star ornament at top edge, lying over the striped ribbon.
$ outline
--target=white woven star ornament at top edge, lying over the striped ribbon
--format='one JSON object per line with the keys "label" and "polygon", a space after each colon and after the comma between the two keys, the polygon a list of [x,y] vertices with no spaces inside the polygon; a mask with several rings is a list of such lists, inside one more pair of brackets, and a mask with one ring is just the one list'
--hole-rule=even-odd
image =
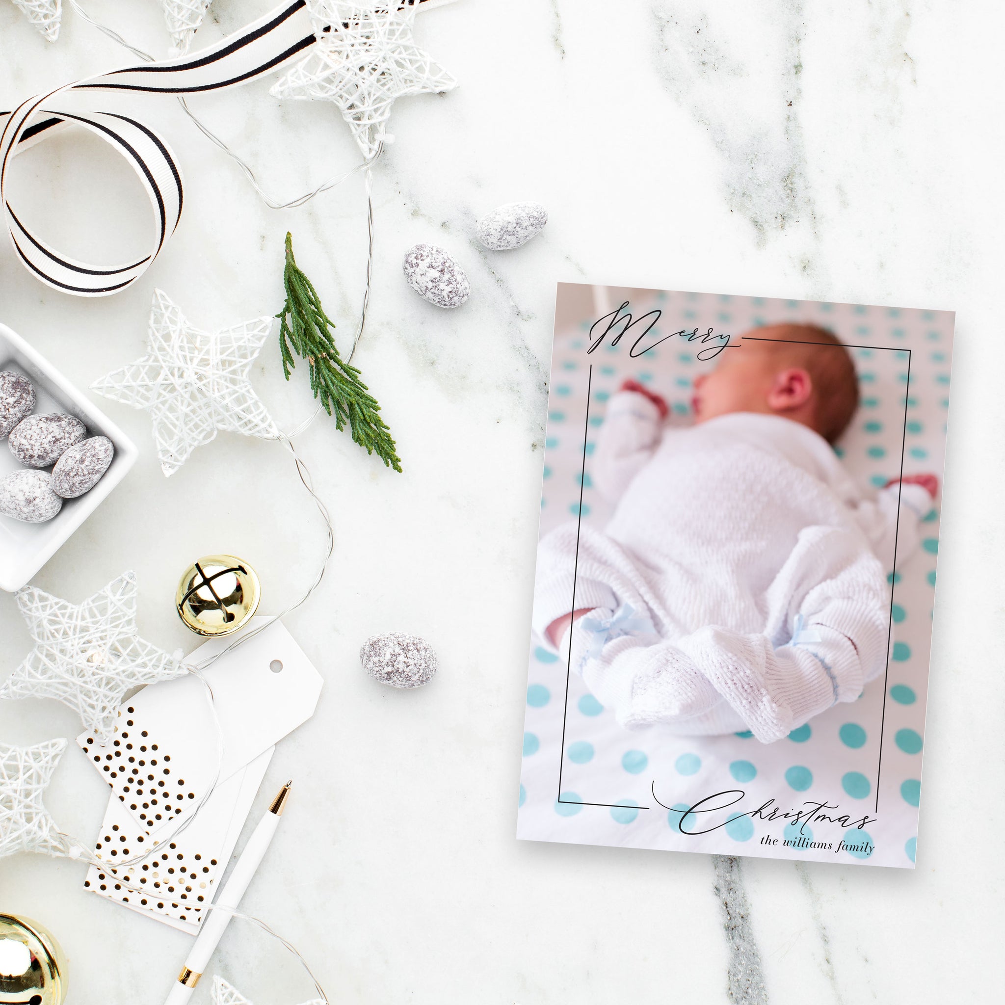
{"label": "white woven star ornament at top edge, lying over the striped ribbon", "polygon": [[335,102],[363,155],[390,138],[385,125],[397,97],[440,93],[457,81],[412,38],[415,7],[374,7],[352,0],[307,0],[318,41],[283,75],[276,97]]}

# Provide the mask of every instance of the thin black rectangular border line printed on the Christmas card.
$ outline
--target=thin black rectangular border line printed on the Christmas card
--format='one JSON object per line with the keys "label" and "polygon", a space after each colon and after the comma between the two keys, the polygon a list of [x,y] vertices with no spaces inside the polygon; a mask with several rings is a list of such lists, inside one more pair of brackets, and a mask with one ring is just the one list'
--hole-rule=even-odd
{"label": "thin black rectangular border line printed on the Christmas card", "polygon": [[[620,312],[620,309],[619,309]],[[601,321],[603,319],[600,319]],[[596,324],[596,323],[595,323]],[[591,329],[592,331],[592,329]],[[743,343],[745,341],[750,342],[791,342],[796,345],[801,346],[822,346],[829,349],[878,349],[885,352],[897,352],[908,354],[908,378],[903,389],[903,423],[900,428],[900,470],[897,476],[897,489],[896,489],[896,523],[894,525],[893,532],[893,567],[892,572],[888,576],[889,581],[889,611],[887,613],[886,621],[886,663],[883,669],[883,692],[882,692],[882,712],[879,720],[879,750],[876,757],[876,773],[875,773],[875,805],[873,812],[879,812],[879,779],[882,775],[882,751],[883,751],[883,738],[885,736],[885,726],[886,726],[886,691],[889,684],[889,663],[891,659],[890,642],[893,638],[893,597],[896,591],[897,583],[897,545],[899,541],[900,532],[900,496],[903,488],[903,456],[907,450],[908,442],[908,408],[911,404],[911,361],[913,350],[904,346],[863,346],[857,345],[850,342],[840,342],[838,344],[829,342],[810,342],[797,339],[766,339],[763,336],[745,335],[741,336],[741,345],[736,347],[738,349],[743,348]],[[651,347],[650,347],[651,348]],[[728,348],[733,348],[732,346]],[[646,351],[639,353],[638,355],[644,356]],[[576,580],[579,574],[579,538],[580,531],[583,526],[583,490],[586,483],[586,444],[590,434],[590,393],[593,386],[593,364],[589,364],[589,371],[587,373],[587,384],[586,384],[586,416],[583,420],[583,464],[580,469],[579,477],[579,512],[576,516],[576,557],[573,565],[573,590],[572,590],[572,606],[571,611],[576,610]],[[570,805],[570,806],[602,806],[605,808],[617,808],[616,803],[593,803],[587,802],[585,800],[577,799],[563,799],[562,798],[562,772],[565,766],[565,737],[566,737],[566,721],[569,716],[569,682],[572,677],[572,653],[570,651],[569,657],[566,659],[566,684],[565,684],[565,697],[562,707],[562,743],[559,750],[559,779],[558,779],[558,797],[556,802],[559,804]],[[655,800],[655,780],[652,780],[650,791],[653,793],[653,799]],[[658,800],[655,800],[658,802]],[[662,803],[659,804],[662,806]],[[651,806],[639,806],[639,810],[649,810],[652,809]]]}

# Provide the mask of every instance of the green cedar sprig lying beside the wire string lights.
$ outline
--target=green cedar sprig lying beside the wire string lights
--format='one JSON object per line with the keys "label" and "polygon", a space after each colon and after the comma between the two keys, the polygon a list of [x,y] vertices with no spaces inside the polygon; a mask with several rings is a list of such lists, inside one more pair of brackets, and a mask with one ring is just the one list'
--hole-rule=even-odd
{"label": "green cedar sprig lying beside the wire string lights", "polygon": [[367,393],[359,369],[344,363],[339,355],[331,333],[335,322],[325,314],[314,284],[297,267],[288,233],[282,282],[286,303],[275,317],[280,323],[279,347],[286,380],[296,366],[295,353],[308,361],[311,390],[325,411],[335,416],[336,428],[343,429],[348,420],[353,439],[366,447],[367,453],[376,453],[388,467],[400,471],[401,458],[395,452],[390,429],[378,414],[380,405]]}

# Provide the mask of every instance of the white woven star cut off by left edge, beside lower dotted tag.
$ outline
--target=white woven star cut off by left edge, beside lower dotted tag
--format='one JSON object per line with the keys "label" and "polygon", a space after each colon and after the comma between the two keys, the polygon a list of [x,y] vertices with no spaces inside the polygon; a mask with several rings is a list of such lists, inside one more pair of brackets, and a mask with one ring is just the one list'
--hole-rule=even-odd
{"label": "white woven star cut off by left edge, beside lower dotted tag", "polygon": [[65,749],[65,740],[34,747],[0,744],[0,858],[17,851],[69,855],[75,850],[42,803]]}

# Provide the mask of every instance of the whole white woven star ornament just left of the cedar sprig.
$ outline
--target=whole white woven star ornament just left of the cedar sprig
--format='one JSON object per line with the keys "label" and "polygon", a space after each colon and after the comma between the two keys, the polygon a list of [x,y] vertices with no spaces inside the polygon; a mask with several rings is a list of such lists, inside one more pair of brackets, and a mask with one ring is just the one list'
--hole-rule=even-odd
{"label": "whole white woven star ornament just left of the cedar sprig", "polygon": [[90,386],[107,398],[149,409],[166,475],[220,429],[274,439],[278,429],[248,380],[272,322],[256,318],[223,332],[202,332],[156,289],[147,355]]}

